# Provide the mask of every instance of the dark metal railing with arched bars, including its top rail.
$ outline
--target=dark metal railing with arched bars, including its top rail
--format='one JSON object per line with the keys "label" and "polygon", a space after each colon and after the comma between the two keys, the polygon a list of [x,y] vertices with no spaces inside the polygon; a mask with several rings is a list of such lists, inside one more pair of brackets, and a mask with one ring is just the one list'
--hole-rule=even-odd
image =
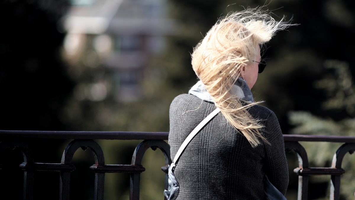
{"label": "dark metal railing with arched bars, including its top rail", "polygon": [[[130,174],[130,200],[138,200],[140,194],[140,174],[145,168],[142,158],[147,149],[159,148],[165,157],[165,166],[162,170],[167,173],[167,165],[171,163],[170,148],[164,141],[168,140],[168,132],[69,132],[69,131],[4,131],[0,130],[0,154],[5,149],[20,149],[23,154],[23,163],[19,167],[23,170],[23,199],[33,199],[33,185],[35,171],[49,171],[60,173],[59,199],[69,199],[70,175],[76,168],[72,158],[78,148],[91,149],[94,153],[95,163],[90,167],[94,171],[94,200],[104,199],[105,173]],[[66,146],[61,163],[36,163],[31,147],[27,144],[30,139],[66,139],[71,142]],[[143,140],[138,144],[132,155],[131,164],[105,164],[104,154],[95,140]],[[299,167],[294,172],[299,176],[298,199],[306,200],[308,196],[308,178],[310,175],[331,176],[331,200],[340,199],[340,175],[345,173],[342,161],[346,153],[355,151],[355,137],[346,136],[312,136],[312,135],[284,135],[285,151],[294,151],[298,156]],[[342,145],[335,152],[331,167],[309,167],[305,148],[299,143],[308,142],[338,142]],[[0,160],[0,170],[3,163]],[[167,189],[168,176],[165,174],[165,189]],[[0,189],[1,190],[1,189]],[[0,191],[1,192],[1,191]],[[2,194],[2,192],[1,192]]]}

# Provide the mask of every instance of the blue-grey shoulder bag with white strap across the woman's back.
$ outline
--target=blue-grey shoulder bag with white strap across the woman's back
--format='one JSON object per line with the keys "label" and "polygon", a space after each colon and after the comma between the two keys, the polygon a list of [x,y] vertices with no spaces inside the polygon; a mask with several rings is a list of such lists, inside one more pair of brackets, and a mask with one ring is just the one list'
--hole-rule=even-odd
{"label": "blue-grey shoulder bag with white strap across the woman's back", "polygon": [[[192,138],[206,125],[215,115],[220,111],[219,108],[215,109],[211,114],[209,114],[205,119],[203,119],[200,124],[193,129],[193,131],[187,136],[184,142],[181,144],[178,152],[174,157],[173,163],[168,165],[168,190],[164,190],[164,196],[167,200],[175,200],[179,195],[179,183],[175,178],[174,170],[182,151],[186,148],[187,144],[192,140]],[[286,200],[285,196],[269,181],[267,176],[264,176],[264,193],[267,196],[267,200]]]}

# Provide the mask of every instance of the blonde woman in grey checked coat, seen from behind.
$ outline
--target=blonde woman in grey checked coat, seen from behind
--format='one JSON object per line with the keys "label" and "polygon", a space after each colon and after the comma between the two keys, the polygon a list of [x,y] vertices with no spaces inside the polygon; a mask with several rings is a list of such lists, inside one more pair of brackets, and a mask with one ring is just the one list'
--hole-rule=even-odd
{"label": "blonde woman in grey checked coat, seen from behind", "polygon": [[285,195],[288,167],[275,114],[250,89],[266,65],[260,47],[290,26],[266,11],[246,9],[219,20],[192,53],[200,79],[170,106],[169,144],[182,142],[208,114],[218,113],[187,145],[174,174],[178,200],[266,199],[263,179]]}

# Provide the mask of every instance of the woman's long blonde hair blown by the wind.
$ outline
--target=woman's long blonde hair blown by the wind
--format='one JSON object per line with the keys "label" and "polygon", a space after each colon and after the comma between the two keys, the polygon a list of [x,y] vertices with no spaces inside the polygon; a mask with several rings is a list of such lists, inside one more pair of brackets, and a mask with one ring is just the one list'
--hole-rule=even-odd
{"label": "woman's long blonde hair blown by the wind", "polygon": [[271,40],[275,33],[291,26],[289,22],[276,21],[268,11],[246,9],[221,18],[193,49],[192,68],[205,85],[215,105],[228,122],[256,147],[268,143],[260,133],[263,128],[247,109],[260,102],[246,103],[230,93],[241,76],[243,67],[255,60],[257,45]]}

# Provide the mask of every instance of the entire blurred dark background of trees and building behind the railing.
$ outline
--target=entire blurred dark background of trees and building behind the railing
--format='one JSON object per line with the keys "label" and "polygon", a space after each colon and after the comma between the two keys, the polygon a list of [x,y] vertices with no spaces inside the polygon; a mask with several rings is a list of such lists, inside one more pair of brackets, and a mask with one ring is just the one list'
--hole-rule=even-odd
{"label": "entire blurred dark background of trees and building behind the railing", "polygon": [[[170,102],[197,81],[193,47],[219,17],[266,4],[275,19],[285,15],[300,25],[266,45],[268,65],[252,89],[254,99],[275,112],[284,134],[354,136],[353,0],[2,0],[0,130],[168,132]],[[35,142],[41,155],[35,162],[58,163],[68,143]],[[130,164],[140,141],[98,142],[107,164]],[[311,167],[329,167],[340,146],[302,145]],[[54,146],[62,150],[50,154]],[[162,155],[147,152],[142,200],[163,199]],[[298,163],[287,156],[292,200]],[[73,199],[92,199],[92,155],[78,151],[73,162],[87,169],[73,172],[79,179],[72,180]],[[346,156],[342,199],[354,199],[354,166]],[[40,175],[34,195],[58,194],[59,181]],[[19,186],[13,199],[22,199],[22,175],[2,176],[8,180],[2,187]],[[310,178],[309,199],[329,198],[329,178]],[[128,187],[127,174],[106,174],[105,199],[129,199]]]}

